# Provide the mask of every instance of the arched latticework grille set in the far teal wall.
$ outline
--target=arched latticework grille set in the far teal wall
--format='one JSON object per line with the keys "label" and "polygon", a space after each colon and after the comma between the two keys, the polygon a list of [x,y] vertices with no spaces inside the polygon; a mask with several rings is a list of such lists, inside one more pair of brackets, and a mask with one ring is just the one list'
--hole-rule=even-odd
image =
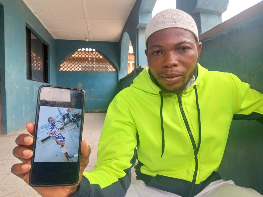
{"label": "arched latticework grille set in the far teal wall", "polygon": [[59,71],[116,71],[115,66],[95,49],[79,49],[65,58]]}

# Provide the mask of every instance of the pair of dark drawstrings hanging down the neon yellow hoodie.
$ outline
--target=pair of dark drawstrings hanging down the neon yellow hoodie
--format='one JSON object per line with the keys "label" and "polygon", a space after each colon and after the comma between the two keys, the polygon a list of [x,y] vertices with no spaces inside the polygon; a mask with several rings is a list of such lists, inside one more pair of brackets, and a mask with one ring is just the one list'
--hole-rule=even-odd
{"label": "pair of dark drawstrings hanging down the neon yellow hoodie", "polygon": [[[196,153],[195,153],[195,159],[196,159],[197,154],[198,154],[199,149],[200,149],[200,144],[201,144],[201,112],[200,112],[199,103],[198,103],[198,94],[197,94],[196,85],[194,86],[194,89],[195,89],[195,102],[196,102],[196,107],[197,107],[197,111],[198,111],[198,127],[199,127],[199,140],[198,140],[198,146],[197,146]],[[160,106],[161,130],[162,130],[162,154],[161,154],[161,157],[163,157],[163,153],[164,153],[163,95],[162,95],[161,91],[159,92],[159,94],[161,97],[161,106]]]}

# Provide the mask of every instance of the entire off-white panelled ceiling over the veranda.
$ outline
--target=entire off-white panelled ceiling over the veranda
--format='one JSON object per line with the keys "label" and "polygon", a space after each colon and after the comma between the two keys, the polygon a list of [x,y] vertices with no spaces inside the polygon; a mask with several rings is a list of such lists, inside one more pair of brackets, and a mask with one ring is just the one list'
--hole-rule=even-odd
{"label": "entire off-white panelled ceiling over the veranda", "polygon": [[54,39],[118,42],[136,0],[23,0]]}

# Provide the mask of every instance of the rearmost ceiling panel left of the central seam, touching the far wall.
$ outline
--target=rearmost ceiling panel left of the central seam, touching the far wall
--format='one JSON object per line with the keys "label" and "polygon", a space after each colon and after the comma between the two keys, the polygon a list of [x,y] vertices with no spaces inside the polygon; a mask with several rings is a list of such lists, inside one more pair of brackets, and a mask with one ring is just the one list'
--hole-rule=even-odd
{"label": "rearmost ceiling panel left of the central seam, touching the far wall", "polygon": [[65,40],[85,40],[85,33],[66,32],[59,30],[50,30],[55,39]]}

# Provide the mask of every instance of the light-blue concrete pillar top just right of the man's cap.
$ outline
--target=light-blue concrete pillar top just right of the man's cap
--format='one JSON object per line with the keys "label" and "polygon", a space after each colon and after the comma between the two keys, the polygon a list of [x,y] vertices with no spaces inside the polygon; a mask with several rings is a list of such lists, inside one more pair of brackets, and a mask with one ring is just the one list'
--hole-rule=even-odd
{"label": "light-blue concrete pillar top just right of the man's cap", "polygon": [[222,23],[222,13],[226,11],[229,0],[177,0],[176,8],[190,14],[202,34]]}

